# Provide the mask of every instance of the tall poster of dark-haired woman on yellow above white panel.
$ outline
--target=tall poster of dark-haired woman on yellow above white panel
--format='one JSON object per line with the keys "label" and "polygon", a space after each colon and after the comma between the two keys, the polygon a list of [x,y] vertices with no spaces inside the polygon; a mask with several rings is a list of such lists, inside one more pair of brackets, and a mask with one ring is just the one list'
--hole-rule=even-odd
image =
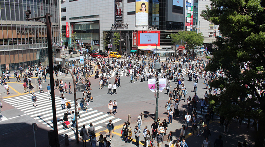
{"label": "tall poster of dark-haired woman on yellow above white panel", "polygon": [[136,0],[136,25],[148,25],[148,0]]}

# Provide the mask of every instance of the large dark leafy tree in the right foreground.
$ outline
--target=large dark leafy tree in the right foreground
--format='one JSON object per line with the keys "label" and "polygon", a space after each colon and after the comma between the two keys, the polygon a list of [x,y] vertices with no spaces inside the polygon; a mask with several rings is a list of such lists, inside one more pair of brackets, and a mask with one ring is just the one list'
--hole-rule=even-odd
{"label": "large dark leafy tree in the right foreground", "polygon": [[210,98],[210,104],[228,118],[258,119],[255,147],[264,147],[265,1],[210,1],[201,16],[219,25],[223,37],[217,37],[219,49],[214,50],[206,70],[216,72],[221,67],[225,75],[210,84],[223,89],[219,96]]}

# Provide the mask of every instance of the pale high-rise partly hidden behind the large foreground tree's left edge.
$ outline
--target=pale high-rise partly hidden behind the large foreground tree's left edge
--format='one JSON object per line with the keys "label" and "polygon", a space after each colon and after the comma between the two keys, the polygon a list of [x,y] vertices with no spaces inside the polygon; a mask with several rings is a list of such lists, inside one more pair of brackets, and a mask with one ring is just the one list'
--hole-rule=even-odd
{"label": "pale high-rise partly hidden behind the large foreground tree's left edge", "polygon": [[198,0],[198,32],[203,34],[204,43],[208,45],[212,45],[212,41],[216,40],[215,37],[219,36],[219,26],[200,16],[202,10],[206,10],[206,6],[210,4],[209,0]]}

